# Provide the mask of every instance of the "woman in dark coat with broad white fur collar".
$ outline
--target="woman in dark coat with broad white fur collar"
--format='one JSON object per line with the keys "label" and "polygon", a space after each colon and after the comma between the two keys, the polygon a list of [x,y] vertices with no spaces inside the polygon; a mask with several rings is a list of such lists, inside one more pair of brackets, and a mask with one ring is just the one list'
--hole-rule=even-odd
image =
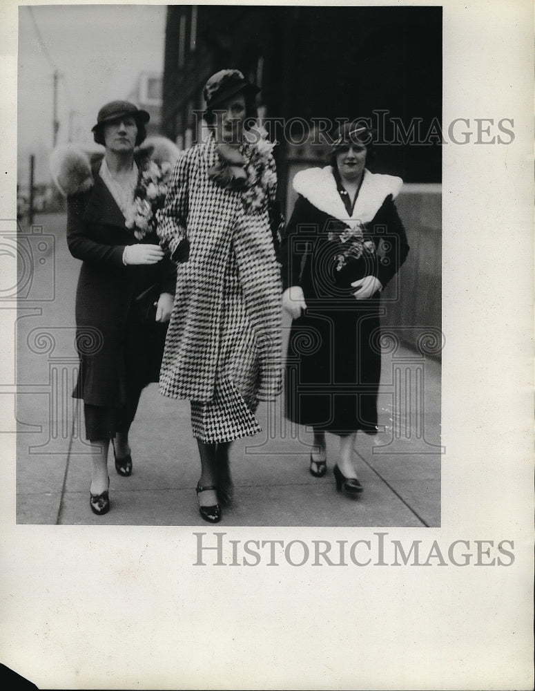
{"label": "woman in dark coat with broad white fur collar", "polygon": [[365,169],[371,133],[344,124],[331,166],[300,171],[282,238],[282,303],[293,317],[286,359],[286,417],[314,431],[310,472],[327,471],[325,432],[340,437],[334,475],[362,491],[356,433],[377,433],[380,292],[409,245],[393,198],[402,180]]}

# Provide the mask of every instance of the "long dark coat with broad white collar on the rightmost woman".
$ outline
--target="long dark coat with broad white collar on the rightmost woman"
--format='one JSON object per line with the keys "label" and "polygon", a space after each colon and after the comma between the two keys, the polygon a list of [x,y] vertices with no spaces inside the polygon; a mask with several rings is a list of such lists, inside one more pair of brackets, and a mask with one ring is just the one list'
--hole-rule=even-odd
{"label": "long dark coat with broad white collar on the rightmost woman", "polygon": [[[385,287],[409,245],[393,203],[402,181],[364,171],[351,216],[331,167],[298,173],[298,200],[282,237],[284,290],[300,285],[306,312],[291,325],[286,417],[335,434],[377,431],[380,293],[357,301],[351,282],[376,276]],[[340,265],[340,233],[364,229],[362,256]]]}

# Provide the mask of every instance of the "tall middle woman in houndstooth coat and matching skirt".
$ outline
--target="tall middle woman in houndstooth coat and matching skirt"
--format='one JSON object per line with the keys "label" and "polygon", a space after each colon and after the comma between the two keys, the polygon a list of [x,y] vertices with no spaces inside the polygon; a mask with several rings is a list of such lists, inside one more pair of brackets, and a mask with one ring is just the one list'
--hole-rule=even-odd
{"label": "tall middle woman in houndstooth coat and matching skirt", "polygon": [[258,402],[281,388],[273,144],[244,127],[256,92],[238,70],[208,79],[210,134],[180,156],[158,216],[162,247],[178,264],[159,386],[191,401],[197,498],[208,522],[230,501],[231,442],[260,432]]}

